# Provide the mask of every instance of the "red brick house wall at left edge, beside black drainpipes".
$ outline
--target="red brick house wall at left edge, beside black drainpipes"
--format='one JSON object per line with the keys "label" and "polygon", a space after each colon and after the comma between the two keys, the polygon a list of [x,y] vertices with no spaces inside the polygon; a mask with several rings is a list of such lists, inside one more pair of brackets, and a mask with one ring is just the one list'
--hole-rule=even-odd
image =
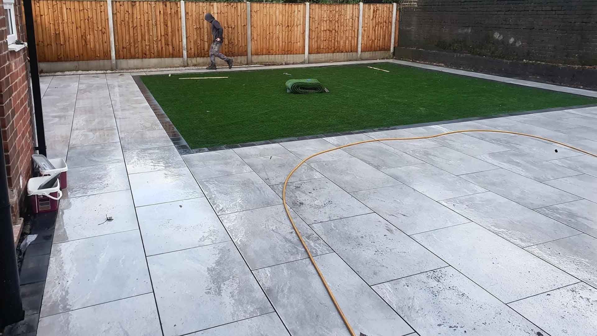
{"label": "red brick house wall at left edge, beside black drainpipes", "polygon": [[[0,1],[0,129],[8,185],[22,200],[31,177],[33,154],[33,105],[29,89],[27,48],[9,51],[4,6]],[[26,41],[21,2],[14,4],[17,39]]]}

